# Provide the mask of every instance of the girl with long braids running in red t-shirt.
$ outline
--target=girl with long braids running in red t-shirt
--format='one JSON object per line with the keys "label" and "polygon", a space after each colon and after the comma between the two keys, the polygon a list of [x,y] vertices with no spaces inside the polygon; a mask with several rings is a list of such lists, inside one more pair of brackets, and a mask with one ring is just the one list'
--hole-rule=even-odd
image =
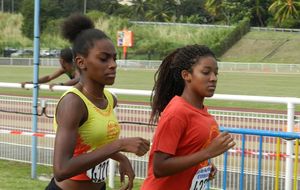
{"label": "girl with long braids running in red t-shirt", "polygon": [[155,74],[151,123],[160,118],[142,190],[202,190],[215,176],[207,160],[235,145],[203,105],[215,92],[217,75],[215,55],[206,46],[185,46],[163,60]]}

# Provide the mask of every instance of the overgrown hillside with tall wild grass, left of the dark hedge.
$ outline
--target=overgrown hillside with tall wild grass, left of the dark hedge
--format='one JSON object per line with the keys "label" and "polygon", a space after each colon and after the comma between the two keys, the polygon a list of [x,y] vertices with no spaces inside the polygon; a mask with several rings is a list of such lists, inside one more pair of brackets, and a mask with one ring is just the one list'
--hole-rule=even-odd
{"label": "overgrown hillside with tall wild grass, left of the dark hedge", "polygon": [[[220,51],[224,38],[228,36],[234,28],[208,28],[193,27],[185,25],[140,25],[132,24],[127,19],[105,15],[100,12],[89,12],[87,14],[95,21],[95,26],[103,30],[112,41],[117,45],[117,31],[127,28],[131,30],[134,38],[133,47],[128,48],[128,59],[163,59],[171,51],[187,44],[205,44],[217,52]],[[18,25],[14,22],[6,22],[3,27],[0,25],[0,33],[4,35],[6,31],[16,30],[16,38],[8,41],[8,38],[0,37],[0,54],[1,49],[11,47],[15,49],[23,49],[24,45],[20,44],[21,35],[20,26],[22,25],[22,15],[10,15],[0,13],[1,21],[4,19],[14,18]],[[60,49],[68,46],[68,43],[60,36],[60,24],[62,19],[52,20],[48,23],[48,27],[40,36],[40,46],[43,49]],[[1,23],[1,22],[0,22]],[[14,34],[14,32],[10,32]],[[27,39],[27,38],[24,38]],[[27,41],[31,41],[27,39]],[[28,44],[28,43],[27,43]],[[25,44],[26,46],[28,46]],[[33,43],[30,43],[31,45]],[[25,47],[26,47],[25,46]],[[122,57],[122,47],[117,48],[119,57]]]}

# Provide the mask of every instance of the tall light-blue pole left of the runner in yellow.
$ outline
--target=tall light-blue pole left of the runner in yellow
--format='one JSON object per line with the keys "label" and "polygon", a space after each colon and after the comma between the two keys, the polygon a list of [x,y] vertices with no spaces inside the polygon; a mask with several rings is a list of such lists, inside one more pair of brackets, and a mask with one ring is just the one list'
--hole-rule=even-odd
{"label": "tall light-blue pole left of the runner in yellow", "polygon": [[[39,96],[39,55],[40,55],[40,0],[34,1],[34,39],[33,39],[33,90],[32,90],[32,132],[37,132]],[[31,178],[36,178],[37,137],[31,137]]]}

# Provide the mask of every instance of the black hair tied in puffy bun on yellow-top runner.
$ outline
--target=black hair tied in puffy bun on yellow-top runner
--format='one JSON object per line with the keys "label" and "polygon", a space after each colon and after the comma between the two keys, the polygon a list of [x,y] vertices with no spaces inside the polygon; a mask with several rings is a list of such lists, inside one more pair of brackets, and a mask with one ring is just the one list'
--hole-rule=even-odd
{"label": "black hair tied in puffy bun on yellow-top runner", "polygon": [[78,54],[87,57],[96,40],[110,39],[89,17],[78,13],[63,22],[62,36],[72,43],[73,58]]}

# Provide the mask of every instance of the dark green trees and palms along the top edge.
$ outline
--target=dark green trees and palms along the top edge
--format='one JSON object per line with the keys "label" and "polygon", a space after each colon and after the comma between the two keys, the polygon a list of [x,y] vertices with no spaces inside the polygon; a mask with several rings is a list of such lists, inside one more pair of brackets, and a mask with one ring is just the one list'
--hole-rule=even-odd
{"label": "dark green trees and palms along the top edge", "polygon": [[[25,18],[33,18],[33,0],[3,2],[4,11],[22,10]],[[101,11],[135,21],[236,24],[249,17],[253,26],[266,26],[266,21],[275,20],[269,22],[271,27],[283,27],[290,26],[284,20],[298,19],[299,6],[299,0],[132,0],[130,6],[117,0],[42,0],[41,20],[47,24],[52,18],[64,18],[75,12]],[[29,26],[23,26],[24,34],[31,38],[33,23],[25,20]]]}

